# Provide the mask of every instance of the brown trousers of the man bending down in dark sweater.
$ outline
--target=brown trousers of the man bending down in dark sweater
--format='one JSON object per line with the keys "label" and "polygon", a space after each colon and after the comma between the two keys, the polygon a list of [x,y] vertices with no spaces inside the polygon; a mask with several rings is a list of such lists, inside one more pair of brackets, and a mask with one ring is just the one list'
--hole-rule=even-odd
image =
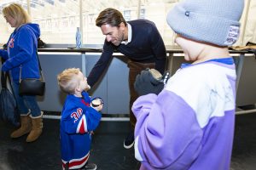
{"label": "brown trousers of the man bending down in dark sweater", "polygon": [[141,71],[145,70],[146,68],[154,68],[154,63],[139,63],[128,60],[127,65],[129,67],[130,123],[131,130],[134,130],[137,120],[131,111],[131,106],[133,105],[134,101],[138,98],[137,92],[134,89],[134,82],[136,80],[137,75],[140,74]]}

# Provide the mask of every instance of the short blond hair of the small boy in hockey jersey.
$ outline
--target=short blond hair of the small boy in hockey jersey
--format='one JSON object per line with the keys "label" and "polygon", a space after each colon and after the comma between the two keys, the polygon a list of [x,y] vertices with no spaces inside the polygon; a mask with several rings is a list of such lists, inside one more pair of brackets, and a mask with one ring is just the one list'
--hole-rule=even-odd
{"label": "short blond hair of the small boy in hockey jersey", "polygon": [[74,94],[75,88],[79,86],[79,72],[79,68],[69,68],[58,74],[58,84],[63,92]]}

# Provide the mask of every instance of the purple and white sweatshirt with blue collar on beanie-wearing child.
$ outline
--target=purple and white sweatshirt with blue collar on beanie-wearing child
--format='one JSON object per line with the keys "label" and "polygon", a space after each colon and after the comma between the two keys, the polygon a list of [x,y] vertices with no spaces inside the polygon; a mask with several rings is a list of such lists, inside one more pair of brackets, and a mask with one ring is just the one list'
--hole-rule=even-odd
{"label": "purple and white sweatshirt with blue collar on beanie-wearing child", "polygon": [[230,169],[235,105],[232,58],[182,65],[159,95],[132,106],[140,169]]}

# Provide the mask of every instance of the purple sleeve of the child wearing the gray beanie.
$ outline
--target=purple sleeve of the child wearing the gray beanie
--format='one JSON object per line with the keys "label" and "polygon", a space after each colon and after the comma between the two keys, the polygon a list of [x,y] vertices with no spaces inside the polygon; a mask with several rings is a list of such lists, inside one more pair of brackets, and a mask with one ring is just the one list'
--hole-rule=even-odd
{"label": "purple sleeve of the child wearing the gray beanie", "polygon": [[201,149],[201,128],[194,111],[176,94],[148,94],[132,106],[137,117],[135,156],[148,169],[187,169]]}

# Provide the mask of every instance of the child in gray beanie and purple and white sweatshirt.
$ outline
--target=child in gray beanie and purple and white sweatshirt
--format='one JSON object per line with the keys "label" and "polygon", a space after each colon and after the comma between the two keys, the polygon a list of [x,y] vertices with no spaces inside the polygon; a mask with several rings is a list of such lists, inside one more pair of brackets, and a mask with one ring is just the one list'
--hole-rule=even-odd
{"label": "child in gray beanie and purple and white sweatshirt", "polygon": [[[230,169],[236,66],[228,46],[238,38],[243,3],[186,0],[167,15],[184,58],[193,63],[181,65],[159,95],[148,92],[133,104],[141,169]],[[138,76],[135,87],[146,82]]]}

